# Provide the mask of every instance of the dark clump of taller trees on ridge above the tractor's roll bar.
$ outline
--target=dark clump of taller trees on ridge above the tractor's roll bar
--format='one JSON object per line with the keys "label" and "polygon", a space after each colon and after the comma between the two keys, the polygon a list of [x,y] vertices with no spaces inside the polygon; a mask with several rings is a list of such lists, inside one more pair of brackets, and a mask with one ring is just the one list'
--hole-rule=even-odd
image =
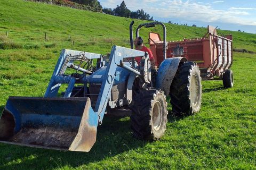
{"label": "dark clump of taller trees on ridge above the tractor's roll bar", "polygon": [[102,10],[104,13],[109,15],[115,15],[115,16],[121,16],[126,18],[133,18],[133,19],[140,19],[140,20],[148,20],[148,21],[154,21],[153,16],[150,17],[147,12],[145,12],[143,9],[137,10],[137,11],[131,11],[129,10],[125,2],[123,1],[120,6],[117,5],[116,8],[113,10],[111,8],[103,8]]}

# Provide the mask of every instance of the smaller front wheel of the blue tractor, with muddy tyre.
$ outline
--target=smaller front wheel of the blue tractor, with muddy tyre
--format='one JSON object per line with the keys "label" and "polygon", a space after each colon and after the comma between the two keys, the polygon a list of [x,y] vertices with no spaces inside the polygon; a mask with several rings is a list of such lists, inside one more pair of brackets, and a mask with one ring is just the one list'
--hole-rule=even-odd
{"label": "smaller front wheel of the blue tractor, with muddy tyre", "polygon": [[135,138],[158,140],[166,130],[167,103],[164,92],[145,89],[134,97],[131,129]]}

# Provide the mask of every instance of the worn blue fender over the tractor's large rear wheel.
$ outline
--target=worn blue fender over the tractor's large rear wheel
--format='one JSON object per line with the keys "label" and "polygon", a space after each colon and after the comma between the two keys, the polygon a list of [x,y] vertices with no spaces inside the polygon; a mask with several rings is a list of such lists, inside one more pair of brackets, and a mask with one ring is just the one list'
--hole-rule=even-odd
{"label": "worn blue fender over the tractor's large rear wheel", "polygon": [[166,58],[159,66],[156,87],[162,89],[166,96],[170,95],[172,80],[175,77],[179,64],[186,61],[187,59],[185,57]]}

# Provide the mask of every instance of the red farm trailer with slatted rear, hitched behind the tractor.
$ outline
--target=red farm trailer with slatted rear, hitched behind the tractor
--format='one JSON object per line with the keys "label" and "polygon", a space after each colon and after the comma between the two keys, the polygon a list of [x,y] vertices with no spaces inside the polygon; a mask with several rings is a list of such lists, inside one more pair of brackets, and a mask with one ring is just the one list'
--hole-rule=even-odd
{"label": "red farm trailer with slatted rear, hitched behind the tractor", "polygon": [[[230,70],[233,63],[232,35],[218,36],[216,28],[210,25],[207,30],[203,38],[165,43],[166,57],[184,56],[197,63],[203,80],[222,80],[224,87],[233,87],[233,72]],[[149,45],[156,62],[162,63],[164,41],[158,33],[149,32]]]}

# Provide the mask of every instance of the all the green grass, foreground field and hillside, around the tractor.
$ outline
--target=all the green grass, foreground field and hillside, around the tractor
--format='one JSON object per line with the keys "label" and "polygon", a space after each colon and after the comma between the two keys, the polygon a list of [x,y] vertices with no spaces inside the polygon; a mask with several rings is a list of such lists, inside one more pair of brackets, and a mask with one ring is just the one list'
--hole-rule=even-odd
{"label": "all the green grass, foreground field and hillside, around the tractor", "polygon": [[[62,48],[106,54],[111,42],[129,47],[130,22],[60,6],[1,2],[0,109],[9,96],[43,96]],[[135,27],[142,22],[135,20]],[[168,40],[202,37],[206,31],[173,24],[166,28]],[[143,30],[146,39],[148,30]],[[152,31],[162,32],[161,27]],[[255,52],[255,34],[218,32],[232,33],[234,47]],[[234,88],[203,81],[201,111],[185,117],[169,112],[162,140],[135,140],[129,118],[105,117],[88,153],[1,143],[0,169],[256,169],[255,63],[256,54],[234,53]]]}

